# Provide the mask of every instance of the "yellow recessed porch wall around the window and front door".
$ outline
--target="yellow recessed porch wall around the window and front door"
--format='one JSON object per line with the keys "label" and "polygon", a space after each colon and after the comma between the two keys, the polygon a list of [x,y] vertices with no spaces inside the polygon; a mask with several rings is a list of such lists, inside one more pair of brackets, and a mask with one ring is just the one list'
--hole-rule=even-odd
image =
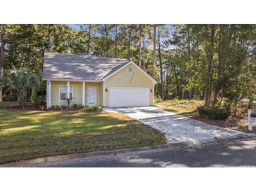
{"label": "yellow recessed porch wall around the window and front door", "polygon": [[[96,88],[96,104],[102,105],[102,83],[88,83],[86,82],[86,104],[87,104],[87,88],[88,86],[95,86]],[[55,105],[67,105],[66,101],[60,101],[60,85],[67,85],[67,81],[51,81],[51,90],[50,90],[50,101],[51,106]],[[82,98],[82,91],[83,91],[83,83],[82,82],[71,82],[70,85],[73,85],[73,101],[72,104],[82,104],[83,98]],[[51,107],[50,106],[50,107]]]}

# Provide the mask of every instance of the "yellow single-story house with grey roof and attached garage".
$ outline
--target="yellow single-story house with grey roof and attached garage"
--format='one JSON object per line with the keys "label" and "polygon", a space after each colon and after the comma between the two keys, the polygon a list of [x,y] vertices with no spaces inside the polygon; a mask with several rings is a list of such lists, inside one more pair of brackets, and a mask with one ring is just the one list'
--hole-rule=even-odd
{"label": "yellow single-story house with grey roof and attached garage", "polygon": [[154,105],[156,81],[132,61],[46,52],[47,107],[72,103],[104,107]]}

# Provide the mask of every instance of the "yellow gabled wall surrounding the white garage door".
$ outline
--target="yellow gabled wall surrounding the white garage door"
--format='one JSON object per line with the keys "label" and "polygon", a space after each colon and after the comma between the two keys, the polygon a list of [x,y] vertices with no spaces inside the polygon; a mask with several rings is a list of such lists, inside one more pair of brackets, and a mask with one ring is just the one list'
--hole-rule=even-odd
{"label": "yellow gabled wall surrounding the white garage door", "polygon": [[[133,67],[133,72],[128,71],[129,67]],[[133,64],[129,64],[121,71],[107,78],[105,81],[105,106],[109,106],[109,87],[133,87],[133,88],[149,88],[149,105],[154,105],[154,85],[150,78],[145,76]],[[150,91],[152,90],[152,92]]]}

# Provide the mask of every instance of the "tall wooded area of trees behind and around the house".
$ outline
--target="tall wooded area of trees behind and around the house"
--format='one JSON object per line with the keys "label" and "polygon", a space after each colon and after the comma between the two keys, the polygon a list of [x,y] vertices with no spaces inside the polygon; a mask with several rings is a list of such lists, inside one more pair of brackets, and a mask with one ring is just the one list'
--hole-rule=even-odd
{"label": "tall wooded area of trees behind and around the house", "polygon": [[[43,53],[133,60],[158,100],[236,106],[256,95],[256,25],[1,25],[0,101],[44,100]],[[3,72],[4,71],[4,72]],[[2,90],[2,91],[1,91]],[[1,96],[2,92],[2,96]]]}

